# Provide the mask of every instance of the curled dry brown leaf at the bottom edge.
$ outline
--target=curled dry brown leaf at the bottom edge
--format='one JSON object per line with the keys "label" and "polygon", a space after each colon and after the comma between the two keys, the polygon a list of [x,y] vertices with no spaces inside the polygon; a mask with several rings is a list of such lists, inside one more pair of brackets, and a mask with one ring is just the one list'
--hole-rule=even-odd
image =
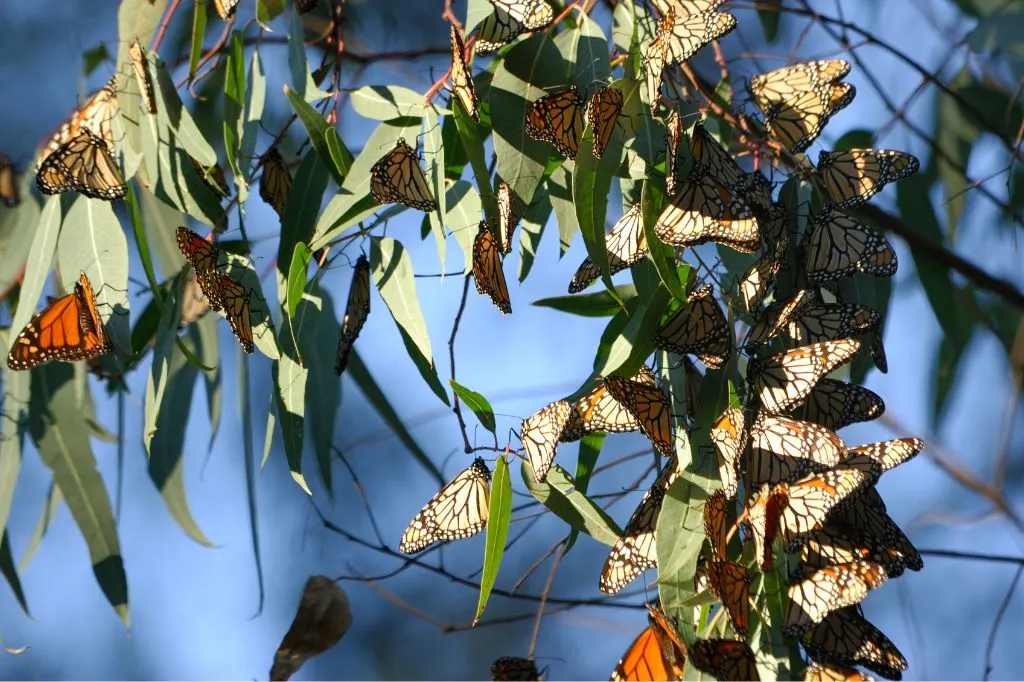
{"label": "curled dry brown leaf at the bottom edge", "polygon": [[292,627],[273,654],[270,679],[291,678],[306,660],[337,644],[351,625],[345,592],[326,576],[311,577]]}

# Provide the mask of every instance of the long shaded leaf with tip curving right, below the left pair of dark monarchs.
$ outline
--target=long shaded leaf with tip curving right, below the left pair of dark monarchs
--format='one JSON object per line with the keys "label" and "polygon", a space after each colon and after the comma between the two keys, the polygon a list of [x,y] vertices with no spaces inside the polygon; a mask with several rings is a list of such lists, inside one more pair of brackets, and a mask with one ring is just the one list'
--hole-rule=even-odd
{"label": "long shaded leaf with tip curving right, below the left pair of dark monarchs", "polygon": [[[167,332],[167,336],[175,334],[176,331],[175,324]],[[194,342],[187,339],[183,343],[195,348]],[[204,547],[213,547],[213,543],[207,539],[193,517],[185,495],[184,440],[188,429],[183,424],[182,416],[187,415],[191,408],[199,372],[182,353],[174,352],[173,338],[167,342],[167,347],[170,357],[167,358],[166,376],[162,382],[164,386],[162,409],[156,420],[156,433],[146,433],[146,436],[152,438],[152,440],[147,438],[150,478],[160,491],[160,497],[163,498],[171,517],[185,535]],[[155,356],[154,368],[157,365]],[[148,384],[146,389],[148,398]],[[148,400],[146,408],[148,415]]]}

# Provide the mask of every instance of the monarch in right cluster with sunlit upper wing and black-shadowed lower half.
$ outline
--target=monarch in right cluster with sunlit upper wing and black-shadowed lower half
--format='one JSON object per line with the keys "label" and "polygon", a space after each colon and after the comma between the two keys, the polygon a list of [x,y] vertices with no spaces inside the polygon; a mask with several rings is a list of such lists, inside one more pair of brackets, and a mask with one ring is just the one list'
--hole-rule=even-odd
{"label": "monarch in right cluster with sunlit upper wing and black-shadowed lower half", "polygon": [[823,426],[760,414],[751,426],[751,483],[794,481],[840,464],[846,443]]}

